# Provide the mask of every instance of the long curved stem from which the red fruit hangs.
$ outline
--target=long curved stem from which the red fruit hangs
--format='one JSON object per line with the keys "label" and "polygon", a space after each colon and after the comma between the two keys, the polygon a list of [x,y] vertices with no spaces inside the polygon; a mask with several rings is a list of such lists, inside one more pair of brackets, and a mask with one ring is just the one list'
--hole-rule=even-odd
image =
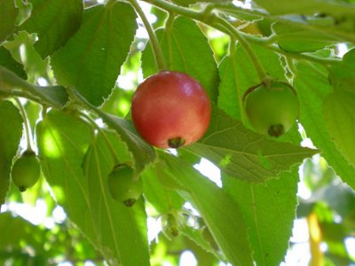
{"label": "long curved stem from which the red fruit hangs", "polygon": [[142,8],[138,4],[136,0],[128,0],[133,8],[138,13],[140,19],[143,21],[144,26],[146,27],[146,31],[149,35],[149,42],[152,45],[154,58],[156,65],[158,66],[159,71],[167,70],[167,66],[165,64],[164,56],[162,54],[162,47],[158,42],[158,39],[154,33],[154,28],[150,25],[149,20],[146,18],[145,12],[143,12]]}

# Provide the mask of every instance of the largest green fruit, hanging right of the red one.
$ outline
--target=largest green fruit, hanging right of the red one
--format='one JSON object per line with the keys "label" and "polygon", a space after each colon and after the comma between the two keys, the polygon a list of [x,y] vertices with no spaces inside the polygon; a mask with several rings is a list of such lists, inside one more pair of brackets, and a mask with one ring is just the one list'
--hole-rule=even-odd
{"label": "largest green fruit, hanging right of the red one", "polygon": [[243,97],[248,121],[256,132],[280,137],[296,122],[299,101],[288,83],[261,83],[246,91]]}

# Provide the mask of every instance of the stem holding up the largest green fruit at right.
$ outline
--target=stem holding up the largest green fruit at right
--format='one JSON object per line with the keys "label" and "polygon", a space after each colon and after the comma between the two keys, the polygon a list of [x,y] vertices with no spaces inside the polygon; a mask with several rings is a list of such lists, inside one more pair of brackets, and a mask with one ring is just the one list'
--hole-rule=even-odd
{"label": "stem holding up the largest green fruit at right", "polygon": [[257,58],[255,51],[251,48],[250,44],[247,42],[244,36],[241,35],[239,30],[233,27],[233,25],[227,20],[224,20],[218,16],[215,16],[214,20],[217,24],[221,25],[222,27],[225,27],[225,29],[230,32],[230,35],[234,36],[241,43],[241,46],[245,49],[245,51],[247,51],[249,58],[251,59],[256,68],[256,73],[260,79],[260,82],[264,82],[264,79],[268,74],[266,73],[264,66],[261,64],[260,60]]}

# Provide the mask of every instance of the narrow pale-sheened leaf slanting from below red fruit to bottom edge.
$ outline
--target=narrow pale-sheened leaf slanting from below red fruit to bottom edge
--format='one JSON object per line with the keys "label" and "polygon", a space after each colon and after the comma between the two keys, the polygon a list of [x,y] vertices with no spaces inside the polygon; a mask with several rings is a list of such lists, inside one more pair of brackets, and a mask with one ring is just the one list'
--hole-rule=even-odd
{"label": "narrow pale-sheened leaf slanting from below red fruit to bottom edge", "polygon": [[247,228],[240,207],[209,179],[177,157],[163,154],[167,178],[183,186],[177,192],[190,201],[201,214],[228,262],[252,265]]}

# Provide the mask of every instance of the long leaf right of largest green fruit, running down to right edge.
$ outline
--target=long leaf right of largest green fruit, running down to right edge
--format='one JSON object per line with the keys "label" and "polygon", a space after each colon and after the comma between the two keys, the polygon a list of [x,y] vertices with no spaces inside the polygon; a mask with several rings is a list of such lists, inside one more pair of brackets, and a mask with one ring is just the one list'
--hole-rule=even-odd
{"label": "long leaf right of largest green fruit, running down to right edge", "polygon": [[355,168],[345,160],[335,143],[330,141],[331,136],[323,118],[323,101],[332,90],[327,79],[327,70],[312,63],[298,63],[296,70],[294,85],[302,110],[299,121],[307,136],[312,139],[313,145],[319,148],[321,155],[335,169],[336,174],[355,189],[355,180],[352,178]]}

